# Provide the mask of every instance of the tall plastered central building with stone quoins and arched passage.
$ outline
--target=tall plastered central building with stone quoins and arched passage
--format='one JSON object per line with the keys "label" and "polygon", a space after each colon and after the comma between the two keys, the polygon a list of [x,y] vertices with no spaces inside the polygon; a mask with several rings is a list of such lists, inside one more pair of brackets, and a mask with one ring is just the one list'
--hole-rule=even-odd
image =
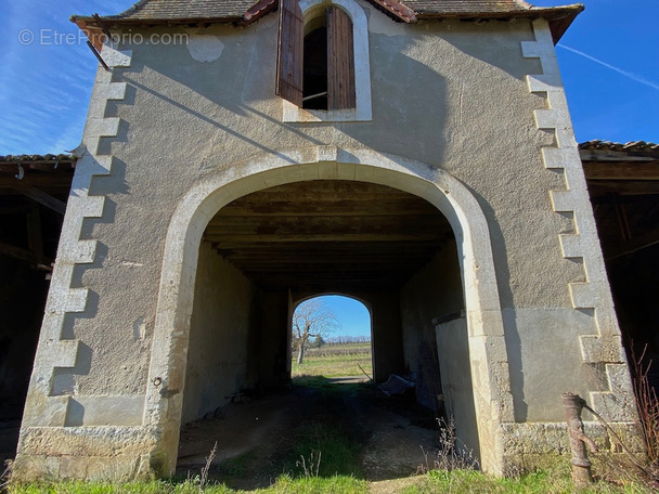
{"label": "tall plastered central building with stone quoins and arched passage", "polygon": [[[299,5],[310,22],[331,3]],[[582,8],[334,4],[353,26],[357,102],[327,110],[275,94],[275,1],[76,20],[99,48],[121,36],[101,50],[17,478],[172,472],[182,421],[286,382],[293,308],[325,292],[370,308],[378,380],[428,370],[424,344],[437,355],[488,471],[565,447],[561,392],[633,435],[554,54]]]}

